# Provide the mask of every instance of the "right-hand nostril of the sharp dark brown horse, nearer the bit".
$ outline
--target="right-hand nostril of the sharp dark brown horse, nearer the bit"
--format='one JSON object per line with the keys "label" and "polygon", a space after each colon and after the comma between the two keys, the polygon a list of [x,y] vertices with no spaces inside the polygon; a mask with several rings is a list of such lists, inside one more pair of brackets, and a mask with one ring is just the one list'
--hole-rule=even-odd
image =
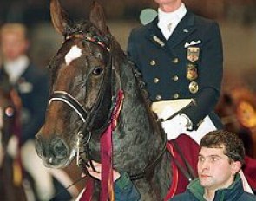
{"label": "right-hand nostril of the sharp dark brown horse, nearer the bit", "polygon": [[62,139],[56,138],[51,142],[51,151],[56,159],[65,159],[69,156],[69,147]]}

